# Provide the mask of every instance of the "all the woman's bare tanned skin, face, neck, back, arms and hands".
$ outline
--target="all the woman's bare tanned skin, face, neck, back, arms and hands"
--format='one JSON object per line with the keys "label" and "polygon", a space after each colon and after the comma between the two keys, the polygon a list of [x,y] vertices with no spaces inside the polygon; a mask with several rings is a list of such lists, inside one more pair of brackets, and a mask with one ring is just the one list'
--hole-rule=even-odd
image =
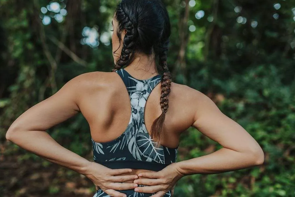
{"label": "all the woman's bare tanned skin, face, neck, back, arms and hands", "polygon": [[[114,30],[117,29],[115,19],[112,24]],[[121,36],[124,34],[123,31]],[[119,39],[113,33],[112,47],[113,51],[119,48],[117,54],[122,49],[122,41],[119,46]],[[117,59],[114,54],[115,63]],[[135,78],[145,79],[150,72],[135,70],[135,66],[146,69],[147,65],[150,72],[156,72],[150,77],[158,74],[156,60],[145,55],[135,57],[124,69]],[[146,103],[144,118],[148,131],[162,113],[160,93],[158,84]],[[168,190],[173,191],[176,182],[185,175],[222,173],[261,165],[264,161],[263,150],[245,129],[224,115],[206,95],[185,85],[171,84],[161,144],[177,147],[181,133],[195,127],[222,148],[209,155],[173,163],[159,172],[106,168],[65,149],[46,132],[79,112],[89,123],[94,141],[108,142],[119,137],[126,129],[131,113],[129,96],[119,75],[97,71],[76,76],[57,93],[19,116],[9,127],[6,139],[50,162],[85,175],[96,188],[115,197],[126,196],[115,189],[155,192],[153,197],[161,197]],[[149,186],[137,187],[137,184]]]}

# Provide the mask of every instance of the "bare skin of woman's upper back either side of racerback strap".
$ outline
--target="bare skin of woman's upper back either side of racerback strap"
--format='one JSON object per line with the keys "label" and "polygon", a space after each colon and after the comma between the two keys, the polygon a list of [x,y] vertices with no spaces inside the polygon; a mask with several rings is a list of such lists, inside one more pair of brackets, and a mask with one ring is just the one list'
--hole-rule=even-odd
{"label": "bare skin of woman's upper back either side of racerback strap", "polygon": [[[117,73],[93,72],[85,74],[87,87],[80,95],[79,109],[90,126],[95,142],[108,142],[119,137],[130,120],[130,100],[123,81]],[[92,81],[92,82],[91,82]],[[193,124],[194,110],[190,107],[189,92],[183,85],[173,83],[166,113],[164,138],[161,145],[177,147],[179,135]],[[148,97],[145,107],[147,130],[162,113],[160,84]]]}

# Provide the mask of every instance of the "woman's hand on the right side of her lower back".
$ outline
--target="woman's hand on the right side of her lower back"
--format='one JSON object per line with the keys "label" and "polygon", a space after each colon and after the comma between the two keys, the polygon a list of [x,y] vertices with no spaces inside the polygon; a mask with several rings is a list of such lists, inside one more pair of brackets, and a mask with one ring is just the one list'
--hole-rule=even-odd
{"label": "woman's hand on the right side of her lower back", "polygon": [[179,171],[177,163],[171,163],[166,168],[158,172],[144,172],[139,173],[138,176],[145,178],[135,179],[133,183],[149,186],[137,187],[134,188],[134,191],[155,193],[151,197],[162,197],[169,190],[174,188],[176,182],[182,178],[184,174]]}

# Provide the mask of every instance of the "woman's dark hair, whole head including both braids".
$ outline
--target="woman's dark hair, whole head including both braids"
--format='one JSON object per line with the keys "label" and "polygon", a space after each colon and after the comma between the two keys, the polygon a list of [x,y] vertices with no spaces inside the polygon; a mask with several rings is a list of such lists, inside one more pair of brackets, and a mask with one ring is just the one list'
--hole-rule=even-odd
{"label": "woman's dark hair, whole head including both braids", "polygon": [[123,29],[126,29],[126,35],[121,55],[112,72],[129,65],[135,52],[146,55],[151,55],[154,52],[159,58],[159,65],[163,70],[160,97],[162,114],[154,120],[150,135],[160,145],[172,82],[171,73],[167,66],[167,52],[171,34],[168,12],[160,0],[123,0],[117,6],[115,19],[119,24],[116,32],[119,40],[121,40]]}

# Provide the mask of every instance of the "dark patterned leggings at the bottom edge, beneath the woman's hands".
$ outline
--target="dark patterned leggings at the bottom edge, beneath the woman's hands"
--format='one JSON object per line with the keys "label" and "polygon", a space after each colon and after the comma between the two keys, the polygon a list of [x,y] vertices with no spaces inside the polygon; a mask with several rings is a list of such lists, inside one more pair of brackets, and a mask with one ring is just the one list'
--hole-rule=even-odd
{"label": "dark patterned leggings at the bottom edge, beneath the woman's hands", "polygon": [[[139,187],[148,186],[148,185],[138,185]],[[140,193],[135,192],[134,189],[128,189],[128,190],[116,190],[121,193],[124,193],[127,195],[127,197],[149,197],[152,196],[155,193]],[[168,193],[166,193],[163,197],[171,197],[171,191],[169,190]],[[110,197],[109,194],[104,193],[101,189],[97,190],[93,197]]]}

